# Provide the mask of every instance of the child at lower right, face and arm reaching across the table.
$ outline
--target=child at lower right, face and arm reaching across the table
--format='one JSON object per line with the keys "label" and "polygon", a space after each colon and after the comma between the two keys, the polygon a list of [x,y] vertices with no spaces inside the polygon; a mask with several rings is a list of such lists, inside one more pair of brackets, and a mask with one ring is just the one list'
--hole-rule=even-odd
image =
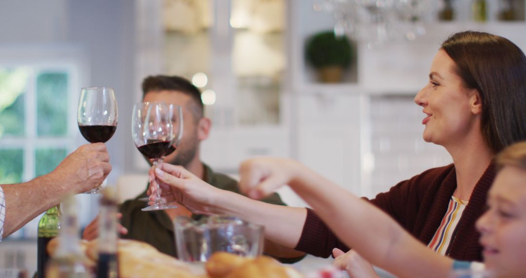
{"label": "child at lower right, face and arm reaching across the table", "polygon": [[[289,184],[343,242],[398,277],[526,277],[526,142],[504,148],[495,161],[498,173],[488,192],[488,208],[476,223],[483,264],[429,250],[378,207],[293,160],[266,157],[244,162],[241,187],[266,195]],[[335,265],[340,261],[337,258]]]}

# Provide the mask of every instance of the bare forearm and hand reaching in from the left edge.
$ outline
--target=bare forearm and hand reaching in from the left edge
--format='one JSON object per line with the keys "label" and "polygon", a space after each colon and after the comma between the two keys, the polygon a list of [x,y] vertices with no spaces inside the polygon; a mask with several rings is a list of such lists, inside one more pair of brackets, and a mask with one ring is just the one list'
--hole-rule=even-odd
{"label": "bare forearm and hand reaching in from the left edge", "polygon": [[20,184],[4,184],[6,214],[4,237],[37,215],[60,203],[67,194],[97,187],[112,170],[103,143],[80,146],[53,172]]}

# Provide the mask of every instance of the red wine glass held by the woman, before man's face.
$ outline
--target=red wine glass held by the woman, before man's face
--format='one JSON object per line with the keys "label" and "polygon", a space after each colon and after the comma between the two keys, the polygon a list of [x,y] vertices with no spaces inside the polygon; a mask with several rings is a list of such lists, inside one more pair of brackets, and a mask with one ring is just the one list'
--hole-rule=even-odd
{"label": "red wine glass held by the woman, before man's face", "polygon": [[[164,102],[135,104],[131,119],[131,135],[139,152],[153,163],[153,167],[157,167],[174,138],[171,114],[166,104]],[[163,201],[157,182],[154,204],[142,210],[166,210],[176,207]]]}

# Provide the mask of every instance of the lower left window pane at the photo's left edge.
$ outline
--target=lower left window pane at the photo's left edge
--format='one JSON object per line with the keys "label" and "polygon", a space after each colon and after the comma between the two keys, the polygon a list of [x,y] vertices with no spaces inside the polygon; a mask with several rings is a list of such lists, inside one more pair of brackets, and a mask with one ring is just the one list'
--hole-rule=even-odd
{"label": "lower left window pane at the photo's left edge", "polygon": [[18,149],[0,149],[0,184],[22,182],[24,152]]}

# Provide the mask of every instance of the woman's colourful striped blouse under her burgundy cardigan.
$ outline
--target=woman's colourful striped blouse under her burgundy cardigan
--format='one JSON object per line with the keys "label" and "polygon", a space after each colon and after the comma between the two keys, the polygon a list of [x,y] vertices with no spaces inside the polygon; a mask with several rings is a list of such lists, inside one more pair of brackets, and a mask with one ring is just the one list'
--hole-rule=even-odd
{"label": "woman's colourful striped blouse under her burgundy cardigan", "polygon": [[467,201],[451,196],[446,215],[444,215],[437,232],[434,233],[433,238],[428,244],[429,249],[439,254],[446,255],[454,231],[457,228],[462,212],[467,205]]}

